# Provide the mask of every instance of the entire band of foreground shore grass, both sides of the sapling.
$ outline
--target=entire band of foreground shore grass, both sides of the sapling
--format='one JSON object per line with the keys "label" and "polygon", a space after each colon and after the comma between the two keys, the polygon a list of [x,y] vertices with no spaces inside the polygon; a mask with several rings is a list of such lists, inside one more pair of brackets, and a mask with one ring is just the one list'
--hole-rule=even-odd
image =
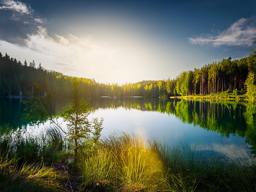
{"label": "entire band of foreground shore grass, both sides of the sapling", "polygon": [[[7,132],[6,132],[7,133]],[[189,145],[170,148],[140,135],[113,133],[99,145],[83,144],[76,165],[68,164],[63,136],[55,129],[32,136],[1,133],[0,190],[3,191],[255,191],[256,162],[233,151],[233,158]],[[239,158],[237,158],[239,156]],[[47,163],[46,163],[47,162]],[[74,177],[72,172],[76,172]],[[73,177],[73,178],[72,178]],[[67,179],[79,186],[68,188]]]}

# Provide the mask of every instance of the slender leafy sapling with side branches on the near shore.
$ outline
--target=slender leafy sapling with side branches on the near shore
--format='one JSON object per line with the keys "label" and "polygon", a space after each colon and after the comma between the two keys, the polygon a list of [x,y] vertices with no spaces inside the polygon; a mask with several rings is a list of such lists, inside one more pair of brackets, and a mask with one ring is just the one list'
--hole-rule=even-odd
{"label": "slender leafy sapling with side branches on the near shore", "polygon": [[29,113],[25,114],[25,119],[30,121],[31,124],[40,124],[50,120],[51,124],[66,133],[69,147],[75,152],[76,161],[77,150],[79,146],[83,145],[83,142],[92,140],[92,142],[98,143],[103,119],[98,121],[95,118],[92,122],[88,120],[87,117],[90,114],[88,103],[83,98],[79,99],[81,92],[79,92],[77,79],[73,78],[72,81],[72,103],[64,107],[62,111],[59,111],[59,116],[62,116],[63,120],[68,122],[66,130],[58,124],[52,91],[46,93],[45,96],[40,96],[39,86],[34,84],[34,92],[29,94],[28,100],[24,101],[24,103],[27,105],[25,110],[29,111]]}

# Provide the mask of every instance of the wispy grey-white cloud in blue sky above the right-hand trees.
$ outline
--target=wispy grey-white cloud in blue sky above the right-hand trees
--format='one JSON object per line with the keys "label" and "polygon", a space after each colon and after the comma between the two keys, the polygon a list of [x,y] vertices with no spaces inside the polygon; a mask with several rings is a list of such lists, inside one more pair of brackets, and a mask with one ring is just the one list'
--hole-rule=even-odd
{"label": "wispy grey-white cloud in blue sky above the right-hand trees", "polygon": [[246,19],[241,18],[232,24],[228,29],[218,33],[216,36],[210,34],[205,37],[188,38],[192,44],[212,44],[213,46],[248,46],[254,45],[256,38],[255,17]]}

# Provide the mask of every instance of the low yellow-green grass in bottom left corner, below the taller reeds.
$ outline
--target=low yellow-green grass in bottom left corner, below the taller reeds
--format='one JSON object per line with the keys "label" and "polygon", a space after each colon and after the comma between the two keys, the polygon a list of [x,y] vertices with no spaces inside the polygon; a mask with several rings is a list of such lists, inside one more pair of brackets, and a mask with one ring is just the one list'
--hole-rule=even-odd
{"label": "low yellow-green grass in bottom left corner, below the taller reeds", "polygon": [[19,167],[16,159],[0,156],[0,189],[4,192],[64,191],[65,177],[43,162]]}

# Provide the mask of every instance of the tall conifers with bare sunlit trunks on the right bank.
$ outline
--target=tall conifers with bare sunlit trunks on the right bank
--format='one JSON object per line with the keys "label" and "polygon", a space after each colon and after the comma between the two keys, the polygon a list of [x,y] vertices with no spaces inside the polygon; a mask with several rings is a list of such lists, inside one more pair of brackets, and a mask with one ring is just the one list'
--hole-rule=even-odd
{"label": "tall conifers with bare sunlit trunks on the right bank", "polygon": [[[256,51],[240,60],[231,60],[231,57],[221,62],[183,71],[175,79],[175,91],[182,95],[214,94],[227,90],[245,90],[256,84]],[[254,94],[256,93],[253,88]]]}

